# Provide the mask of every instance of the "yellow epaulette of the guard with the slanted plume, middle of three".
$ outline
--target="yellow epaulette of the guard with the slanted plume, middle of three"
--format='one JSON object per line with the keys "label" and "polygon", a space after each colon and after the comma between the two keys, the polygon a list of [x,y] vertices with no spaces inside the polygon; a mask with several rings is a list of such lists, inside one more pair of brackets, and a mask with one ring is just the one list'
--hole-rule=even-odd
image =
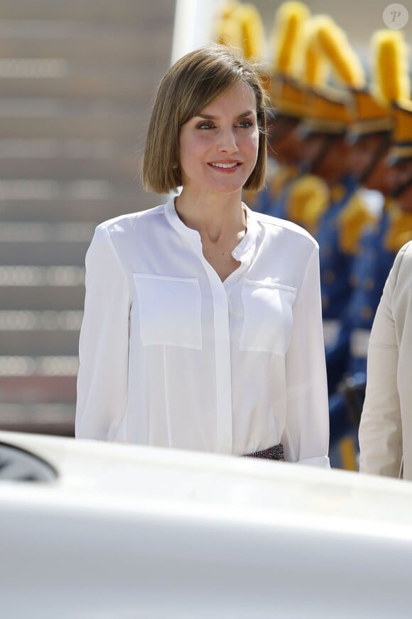
{"label": "yellow epaulette of the guard with the slanted plume, middle of three", "polygon": [[376,216],[372,215],[367,205],[355,192],[338,218],[339,245],[342,251],[356,254],[365,226],[374,221],[376,221]]}

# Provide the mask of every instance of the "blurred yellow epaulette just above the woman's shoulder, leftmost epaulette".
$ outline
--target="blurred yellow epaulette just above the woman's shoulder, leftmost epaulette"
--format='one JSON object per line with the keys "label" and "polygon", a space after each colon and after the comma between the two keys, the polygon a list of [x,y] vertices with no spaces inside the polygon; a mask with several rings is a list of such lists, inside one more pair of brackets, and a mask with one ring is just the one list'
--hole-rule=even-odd
{"label": "blurred yellow epaulette just above the woman's shoulder, leftmost epaulette", "polygon": [[330,190],[319,176],[306,174],[291,184],[286,204],[288,219],[314,233],[330,201]]}

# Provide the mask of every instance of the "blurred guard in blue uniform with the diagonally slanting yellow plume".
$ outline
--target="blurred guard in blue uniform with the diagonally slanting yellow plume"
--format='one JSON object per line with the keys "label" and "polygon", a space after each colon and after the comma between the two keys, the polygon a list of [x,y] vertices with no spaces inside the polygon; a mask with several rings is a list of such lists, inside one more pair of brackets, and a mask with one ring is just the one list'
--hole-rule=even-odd
{"label": "blurred guard in blue uniform with the diagonally slanting yellow plume", "polygon": [[349,334],[342,329],[352,287],[352,263],[359,238],[373,221],[370,208],[359,196],[359,184],[350,170],[352,122],[349,88],[364,85],[364,73],[345,33],[327,16],[317,18],[315,41],[346,88],[314,88],[308,92],[308,115],[301,126],[303,157],[308,170],[330,188],[330,201],[319,219],[315,237],[320,245],[320,278],[324,319],[328,388],[334,393],[347,362]]}

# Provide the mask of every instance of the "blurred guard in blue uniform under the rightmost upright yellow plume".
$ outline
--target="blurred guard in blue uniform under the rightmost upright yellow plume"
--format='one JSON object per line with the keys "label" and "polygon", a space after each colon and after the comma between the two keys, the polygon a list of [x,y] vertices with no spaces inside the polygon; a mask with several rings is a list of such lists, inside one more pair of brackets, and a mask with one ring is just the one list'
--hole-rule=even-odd
{"label": "blurred guard in blue uniform under the rightmost upright yellow plume", "polygon": [[[408,92],[407,81],[399,75],[405,53],[401,33],[376,32],[372,37],[371,87],[353,92],[356,112],[349,129],[349,138],[354,143],[352,168],[363,187],[380,192],[384,206],[377,221],[364,232],[361,250],[354,260],[353,292],[344,327],[349,332],[347,367],[344,380],[330,397],[331,426],[336,432],[336,436],[331,437],[332,444],[345,437],[340,441],[340,460],[345,468],[356,467],[354,456],[364,400],[367,347],[376,308],[396,253],[412,238],[412,215],[402,213],[391,197],[394,175],[387,157],[391,139],[395,139],[391,138],[390,104]],[[399,78],[387,80],[388,74],[399,75]]]}

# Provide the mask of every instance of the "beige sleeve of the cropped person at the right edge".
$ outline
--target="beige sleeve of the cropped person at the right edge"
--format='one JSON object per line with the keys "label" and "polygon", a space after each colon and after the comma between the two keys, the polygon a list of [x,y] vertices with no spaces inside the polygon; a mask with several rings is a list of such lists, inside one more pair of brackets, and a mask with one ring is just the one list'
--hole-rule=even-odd
{"label": "beige sleeve of the cropped person at the right edge", "polygon": [[359,471],[398,477],[402,456],[398,391],[399,350],[392,312],[394,288],[404,251],[396,256],[372,326],[367,357],[367,389],[359,425]]}

